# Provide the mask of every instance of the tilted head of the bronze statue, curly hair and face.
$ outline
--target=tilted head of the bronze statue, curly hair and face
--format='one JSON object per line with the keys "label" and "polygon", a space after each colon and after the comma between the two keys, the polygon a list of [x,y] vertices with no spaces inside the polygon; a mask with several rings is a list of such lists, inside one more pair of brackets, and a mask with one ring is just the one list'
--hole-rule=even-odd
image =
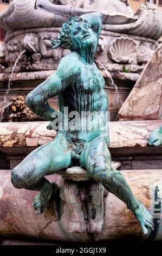
{"label": "tilted head of the bronze statue, curly hair and face", "polygon": [[57,39],[52,39],[51,42],[54,44],[53,48],[62,45],[69,50],[79,51],[94,45],[95,38],[92,28],[86,20],[71,16],[66,23],[63,23]]}

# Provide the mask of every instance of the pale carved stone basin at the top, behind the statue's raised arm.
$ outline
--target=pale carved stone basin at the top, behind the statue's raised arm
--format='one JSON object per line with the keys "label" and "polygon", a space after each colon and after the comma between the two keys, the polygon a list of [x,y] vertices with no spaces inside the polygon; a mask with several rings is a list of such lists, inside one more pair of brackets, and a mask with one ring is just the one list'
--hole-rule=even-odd
{"label": "pale carved stone basin at the top, behind the statue's raised arm", "polygon": [[106,31],[159,39],[162,13],[157,7],[150,3],[142,4],[134,15],[128,4],[127,0],[15,0],[1,13],[0,25],[7,34],[26,28],[61,27],[70,15],[78,16],[91,9],[100,10],[102,29]]}

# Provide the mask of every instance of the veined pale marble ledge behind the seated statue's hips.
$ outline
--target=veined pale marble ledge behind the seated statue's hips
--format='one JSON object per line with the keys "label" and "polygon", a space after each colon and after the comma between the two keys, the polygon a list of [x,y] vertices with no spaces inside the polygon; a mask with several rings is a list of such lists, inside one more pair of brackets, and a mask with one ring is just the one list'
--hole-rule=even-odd
{"label": "veined pale marble ledge behind the seated statue's hips", "polygon": [[[48,143],[56,136],[56,131],[47,130],[49,122],[0,123],[0,150],[36,148]],[[111,122],[110,149],[129,148],[132,150],[149,148],[147,140],[151,132],[162,125],[162,120]],[[12,149],[11,149],[12,148]],[[160,151],[161,148],[159,147]],[[151,148],[152,150],[152,148]],[[153,152],[157,149],[154,148]]]}

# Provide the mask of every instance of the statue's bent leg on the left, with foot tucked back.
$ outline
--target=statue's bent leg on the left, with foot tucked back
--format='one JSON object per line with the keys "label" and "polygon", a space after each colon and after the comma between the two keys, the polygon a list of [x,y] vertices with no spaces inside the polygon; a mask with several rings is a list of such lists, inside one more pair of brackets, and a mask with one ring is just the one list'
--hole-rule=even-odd
{"label": "statue's bent leg on the left, with foot tucked back", "polygon": [[67,141],[60,133],[54,141],[42,145],[31,152],[12,170],[11,181],[16,188],[40,191],[35,198],[34,208],[41,214],[48,206],[49,199],[57,185],[44,178],[56,170],[69,167],[71,154]]}

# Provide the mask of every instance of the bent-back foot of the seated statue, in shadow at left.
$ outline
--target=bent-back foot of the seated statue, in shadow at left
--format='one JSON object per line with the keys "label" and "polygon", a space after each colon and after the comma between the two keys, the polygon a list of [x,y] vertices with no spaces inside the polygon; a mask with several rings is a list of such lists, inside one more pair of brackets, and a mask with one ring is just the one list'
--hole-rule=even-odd
{"label": "bent-back foot of the seated statue, in shadow at left", "polygon": [[54,191],[57,190],[57,185],[53,184],[49,187],[47,192],[41,192],[34,199],[34,209],[38,210],[37,214],[42,214],[43,211],[48,207],[49,200]]}

